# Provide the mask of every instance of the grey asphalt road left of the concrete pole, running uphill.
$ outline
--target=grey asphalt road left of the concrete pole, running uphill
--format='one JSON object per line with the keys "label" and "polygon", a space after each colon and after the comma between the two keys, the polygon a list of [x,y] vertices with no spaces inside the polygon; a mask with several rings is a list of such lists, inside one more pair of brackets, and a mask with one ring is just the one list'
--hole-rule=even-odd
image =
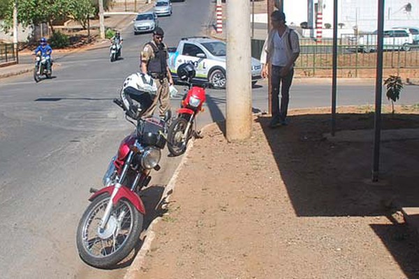
{"label": "grey asphalt road left of the concrete pole, running uphill", "polygon": [[[166,43],[200,35],[210,5],[173,3],[173,15],[160,18]],[[134,36],[132,26],[122,36],[123,59],[114,63],[104,47],[61,56],[52,80],[36,84],[29,74],[1,80],[0,278],[123,277],[126,268],[92,269],[75,248],[89,188],[101,188],[110,158],[133,130],[112,99],[138,71],[140,48],[152,36]],[[163,156],[146,208],[159,201],[180,159]]]}

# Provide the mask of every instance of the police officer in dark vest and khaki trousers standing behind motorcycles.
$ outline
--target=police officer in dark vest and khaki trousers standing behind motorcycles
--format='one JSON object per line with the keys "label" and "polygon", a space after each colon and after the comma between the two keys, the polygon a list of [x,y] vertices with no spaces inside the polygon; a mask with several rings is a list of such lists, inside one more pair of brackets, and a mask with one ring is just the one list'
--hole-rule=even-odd
{"label": "police officer in dark vest and khaki trousers standing behind motorcycles", "polygon": [[170,110],[169,86],[173,84],[172,75],[168,67],[168,50],[163,43],[164,31],[156,27],[153,40],[146,43],[141,52],[141,72],[151,75],[157,82],[157,94],[153,104],[145,112],[145,117],[152,116],[156,110],[157,102],[160,103],[159,115],[164,118]]}

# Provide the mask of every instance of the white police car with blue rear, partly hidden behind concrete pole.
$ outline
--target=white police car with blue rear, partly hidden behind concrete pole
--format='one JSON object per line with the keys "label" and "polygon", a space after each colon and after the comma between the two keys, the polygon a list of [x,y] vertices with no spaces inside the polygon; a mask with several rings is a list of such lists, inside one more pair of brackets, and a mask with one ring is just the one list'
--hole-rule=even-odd
{"label": "white police car with blue rear, partly hidden behind concrete pole", "polygon": [[[193,82],[210,82],[215,89],[226,87],[226,43],[207,37],[182,38],[177,47],[168,48],[168,66],[176,79],[177,67],[191,61],[195,66]],[[252,85],[260,80],[262,65],[251,58]]]}

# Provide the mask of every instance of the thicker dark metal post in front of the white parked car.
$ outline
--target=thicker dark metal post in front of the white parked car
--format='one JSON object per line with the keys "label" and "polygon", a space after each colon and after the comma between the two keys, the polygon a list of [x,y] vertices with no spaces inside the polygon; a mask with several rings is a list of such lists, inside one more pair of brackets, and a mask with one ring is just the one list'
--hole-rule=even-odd
{"label": "thicker dark metal post in front of the white parked car", "polygon": [[381,141],[381,95],[383,91],[383,32],[384,0],[378,0],[377,61],[376,61],[376,107],[374,116],[374,158],[372,163],[372,181],[378,181]]}

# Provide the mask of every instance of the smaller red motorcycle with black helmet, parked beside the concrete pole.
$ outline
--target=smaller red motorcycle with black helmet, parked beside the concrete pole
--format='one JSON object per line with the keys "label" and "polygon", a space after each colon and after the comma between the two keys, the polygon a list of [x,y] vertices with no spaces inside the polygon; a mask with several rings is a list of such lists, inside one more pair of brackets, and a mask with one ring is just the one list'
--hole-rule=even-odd
{"label": "smaller red motorcycle with black helmet, parked beside the concrete pole", "polygon": [[191,137],[200,137],[196,130],[196,115],[203,111],[205,103],[205,87],[210,84],[205,83],[204,88],[193,86],[191,80],[195,77],[195,69],[192,63],[183,63],[177,68],[178,81],[189,86],[188,92],[180,102],[177,110],[177,118],[172,121],[168,129],[168,149],[173,156],[179,156],[186,151]]}

